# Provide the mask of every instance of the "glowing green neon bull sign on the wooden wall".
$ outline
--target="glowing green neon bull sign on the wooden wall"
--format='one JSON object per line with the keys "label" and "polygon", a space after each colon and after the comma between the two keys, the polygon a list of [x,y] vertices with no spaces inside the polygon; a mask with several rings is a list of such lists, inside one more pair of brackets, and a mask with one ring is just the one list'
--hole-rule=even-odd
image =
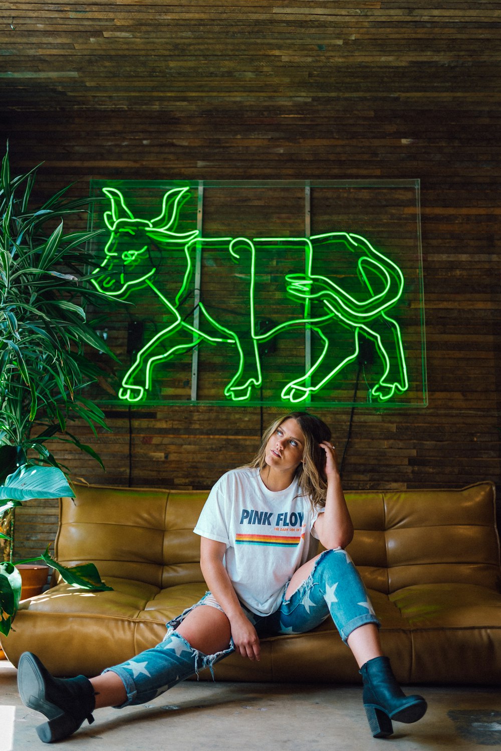
{"label": "glowing green neon bull sign on the wooden wall", "polygon": [[[362,339],[370,339],[376,353],[377,382],[371,388],[375,403],[388,403],[409,388],[407,364],[401,328],[392,318],[392,308],[404,291],[404,274],[388,256],[375,249],[361,235],[331,232],[313,237],[202,237],[199,230],[176,231],[181,208],[189,198],[189,188],[175,188],[163,195],[160,213],[153,219],[138,219],[127,207],[118,189],[104,188],[110,208],[104,222],[110,235],[104,248],[104,260],[93,272],[93,283],[111,297],[131,294],[153,294],[162,305],[163,324],[136,353],[124,375],[119,398],[137,403],[148,397],[155,366],[178,360],[198,345],[218,345],[236,353],[237,366],[223,388],[229,402],[245,403],[263,386],[260,351],[266,342],[288,331],[302,327],[316,337],[317,348],[304,372],[287,382],[281,399],[287,403],[304,403],[337,379],[343,369],[359,359]],[[181,250],[184,258],[181,272],[177,269],[175,291],[161,288],[157,282],[157,264],[151,255],[154,244],[161,249],[166,263],[169,254]],[[260,273],[260,257],[281,246],[297,248],[297,268],[290,263],[284,270],[283,294],[296,300],[299,315],[288,315],[263,330],[257,318],[256,288]],[[220,305],[204,300],[196,306],[196,321],[188,321],[181,306],[190,288],[197,254],[208,255],[217,248],[231,259],[236,275],[246,279],[245,294],[239,301],[239,320]],[[343,275],[317,273],[316,254],[332,258],[338,253],[350,256],[356,269],[356,294],[344,283]],[[183,255],[184,254],[184,255]],[[261,254],[261,255],[260,255]],[[353,259],[353,260],[352,260]],[[279,261],[278,261],[279,263]],[[242,273],[239,274],[239,269]],[[350,333],[350,351],[340,356],[336,347],[339,327]]]}

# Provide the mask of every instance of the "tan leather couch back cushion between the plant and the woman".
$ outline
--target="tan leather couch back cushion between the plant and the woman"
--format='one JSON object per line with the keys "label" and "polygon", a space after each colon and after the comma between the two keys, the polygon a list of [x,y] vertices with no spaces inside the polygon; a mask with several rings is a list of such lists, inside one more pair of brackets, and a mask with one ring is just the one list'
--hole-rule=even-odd
{"label": "tan leather couch back cushion between the plant and the woman", "polygon": [[193,534],[208,491],[79,486],[63,498],[55,557],[65,566],[92,561],[102,578],[169,587],[203,582]]}

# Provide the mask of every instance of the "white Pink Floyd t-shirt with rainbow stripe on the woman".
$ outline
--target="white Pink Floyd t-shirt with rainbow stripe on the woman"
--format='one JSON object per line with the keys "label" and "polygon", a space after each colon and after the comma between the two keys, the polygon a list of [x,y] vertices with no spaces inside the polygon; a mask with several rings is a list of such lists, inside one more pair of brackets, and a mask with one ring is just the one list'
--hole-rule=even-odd
{"label": "white Pink Floyd t-shirt with rainbow stripe on the woman", "polygon": [[259,615],[277,610],[290,578],[310,555],[313,511],[297,479],[268,490],[259,469],[232,469],[214,484],[194,532],[226,544],[224,563],[243,605]]}

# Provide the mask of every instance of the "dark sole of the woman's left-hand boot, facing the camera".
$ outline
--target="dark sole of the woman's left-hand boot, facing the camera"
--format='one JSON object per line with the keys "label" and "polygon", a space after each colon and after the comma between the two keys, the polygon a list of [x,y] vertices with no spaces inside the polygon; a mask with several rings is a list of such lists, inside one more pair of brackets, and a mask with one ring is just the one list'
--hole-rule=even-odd
{"label": "dark sole of the woman's left-hand boot, facing the camera", "polygon": [[49,720],[36,728],[38,737],[43,743],[53,743],[74,733],[78,726],[61,707],[45,698],[46,683],[40,665],[37,656],[30,652],[23,653],[17,668],[17,687],[26,707],[40,712]]}

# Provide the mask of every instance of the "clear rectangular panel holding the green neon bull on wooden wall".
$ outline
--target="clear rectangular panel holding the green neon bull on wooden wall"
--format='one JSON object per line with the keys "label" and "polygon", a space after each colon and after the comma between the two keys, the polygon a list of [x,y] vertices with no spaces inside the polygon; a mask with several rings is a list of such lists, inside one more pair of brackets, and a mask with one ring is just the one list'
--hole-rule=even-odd
{"label": "clear rectangular panel holding the green neon bull on wooden wall", "polygon": [[[103,192],[104,190],[104,192]],[[419,181],[94,181],[115,400],[425,406]]]}

